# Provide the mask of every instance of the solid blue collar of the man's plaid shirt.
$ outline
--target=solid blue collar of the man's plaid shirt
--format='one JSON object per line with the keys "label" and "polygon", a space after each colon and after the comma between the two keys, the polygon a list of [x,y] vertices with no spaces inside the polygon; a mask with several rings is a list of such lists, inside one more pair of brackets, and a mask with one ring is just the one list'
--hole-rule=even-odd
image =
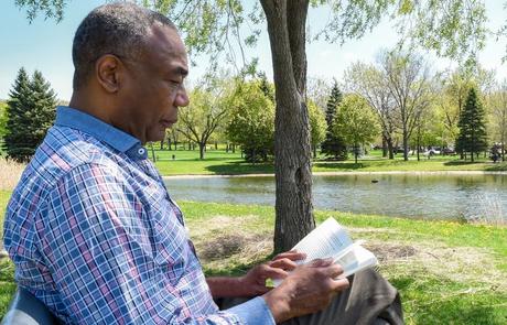
{"label": "solid blue collar of the man's plaid shirt", "polygon": [[75,108],[58,106],[55,126],[68,127],[88,133],[131,158],[147,159],[148,156],[148,152],[139,139]]}

